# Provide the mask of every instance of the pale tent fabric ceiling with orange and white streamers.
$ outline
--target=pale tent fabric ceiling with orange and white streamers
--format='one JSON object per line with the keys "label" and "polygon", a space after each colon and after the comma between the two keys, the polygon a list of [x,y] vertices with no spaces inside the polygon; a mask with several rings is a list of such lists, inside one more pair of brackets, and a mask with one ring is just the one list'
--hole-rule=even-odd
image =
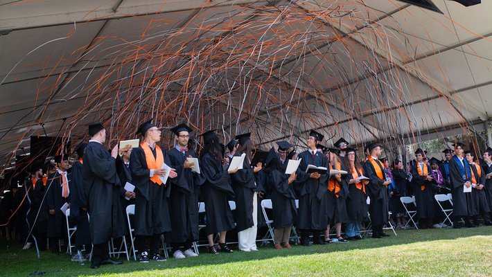
{"label": "pale tent fabric ceiling with orange and white streamers", "polygon": [[483,129],[492,3],[434,3],[444,15],[392,0],[0,1],[0,157],[100,118],[112,140],[152,116],[262,144]]}

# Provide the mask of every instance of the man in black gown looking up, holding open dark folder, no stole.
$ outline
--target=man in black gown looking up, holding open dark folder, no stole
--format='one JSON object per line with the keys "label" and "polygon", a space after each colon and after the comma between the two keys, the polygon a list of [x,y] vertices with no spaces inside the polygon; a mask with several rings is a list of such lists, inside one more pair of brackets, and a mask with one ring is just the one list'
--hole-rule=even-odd
{"label": "man in black gown looking up, holding open dark folder, no stole", "polygon": [[323,135],[311,130],[307,139],[308,150],[301,152],[297,158],[302,159],[297,168],[294,188],[299,198],[297,229],[300,231],[301,244],[310,245],[310,235],[315,244],[324,244],[321,233],[328,226],[326,201],[328,197],[328,177],[326,173],[306,172],[308,165],[328,168],[326,156],[318,152],[316,145],[323,140]]}

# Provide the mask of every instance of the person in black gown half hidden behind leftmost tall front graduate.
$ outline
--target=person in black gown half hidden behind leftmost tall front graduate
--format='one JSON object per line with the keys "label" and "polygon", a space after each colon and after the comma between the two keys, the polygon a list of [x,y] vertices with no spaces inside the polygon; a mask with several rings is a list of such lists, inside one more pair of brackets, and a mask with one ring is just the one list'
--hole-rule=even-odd
{"label": "person in black gown half hidden behind leftmost tall front graduate", "polygon": [[[85,248],[86,253],[91,253],[89,217],[87,217],[87,207],[82,206],[82,204],[87,202],[82,180],[82,164],[84,163],[84,151],[86,147],[87,143],[80,143],[75,150],[73,150],[77,153],[78,161],[73,163],[71,172],[70,219],[77,225],[75,235],[76,251],[82,251],[82,249]],[[74,253],[72,261],[78,260],[80,260],[80,256],[78,253]]]}

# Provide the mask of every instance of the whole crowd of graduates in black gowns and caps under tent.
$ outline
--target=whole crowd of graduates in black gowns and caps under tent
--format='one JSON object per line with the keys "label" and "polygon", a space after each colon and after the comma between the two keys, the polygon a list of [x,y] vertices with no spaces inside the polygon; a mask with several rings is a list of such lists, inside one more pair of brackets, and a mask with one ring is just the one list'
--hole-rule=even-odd
{"label": "whole crowd of graduates in black gowns and caps under tent", "polygon": [[[368,229],[371,238],[383,238],[389,224],[396,229],[410,225],[401,197],[414,197],[419,229],[492,224],[491,148],[478,157],[473,150],[464,151],[464,143],[455,143],[453,150],[443,150],[445,161],[428,159],[418,149],[406,163],[381,157],[381,145],[371,143],[361,161],[344,139],[323,146],[324,136],[315,130],[300,153],[287,141],[267,152],[254,150],[249,133],[225,145],[215,130],[193,139],[185,124],[171,131],[175,147],[167,151],[159,147],[161,129],[151,120],[139,126],[138,147],[114,145],[108,151],[103,125],[89,125],[88,143],[80,143],[72,155],[56,156],[54,164],[32,165],[24,184],[4,192],[2,234],[25,242],[24,249],[36,245],[41,251],[64,251],[59,244],[69,239],[62,211],[68,204],[69,221],[77,226],[73,253],[78,254],[72,260],[90,258],[91,268],[98,268],[121,264],[109,258],[107,242],[128,236],[129,205],[134,205],[131,228],[139,262],[166,260],[163,235],[174,258],[198,256],[193,243],[200,238],[200,226],[208,253],[233,252],[227,240],[236,237],[229,231],[237,233],[239,251],[258,251],[258,226],[265,226],[263,199],[272,202],[276,249],[292,247],[294,228],[306,247],[362,240]],[[242,155],[243,166],[231,168],[234,157]],[[70,164],[70,157],[77,159]],[[188,158],[199,161],[200,173]],[[289,161],[299,159],[297,170],[285,174]],[[450,194],[453,220],[448,224],[434,199],[437,194]],[[204,203],[203,215],[199,202]]]}

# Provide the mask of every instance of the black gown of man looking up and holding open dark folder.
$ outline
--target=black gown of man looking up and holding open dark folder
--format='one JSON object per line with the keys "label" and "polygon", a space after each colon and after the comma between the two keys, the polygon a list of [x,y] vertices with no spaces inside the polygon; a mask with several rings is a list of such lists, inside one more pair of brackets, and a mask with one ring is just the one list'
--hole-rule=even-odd
{"label": "black gown of man looking up and holding open dark folder", "polygon": [[306,150],[299,154],[301,163],[297,168],[297,179],[294,188],[299,197],[298,228],[299,230],[324,231],[328,226],[328,214],[326,203],[328,201],[328,174],[322,174],[319,179],[310,178],[306,172],[308,165],[322,166],[328,168],[326,156],[316,152],[313,158],[310,151]]}

